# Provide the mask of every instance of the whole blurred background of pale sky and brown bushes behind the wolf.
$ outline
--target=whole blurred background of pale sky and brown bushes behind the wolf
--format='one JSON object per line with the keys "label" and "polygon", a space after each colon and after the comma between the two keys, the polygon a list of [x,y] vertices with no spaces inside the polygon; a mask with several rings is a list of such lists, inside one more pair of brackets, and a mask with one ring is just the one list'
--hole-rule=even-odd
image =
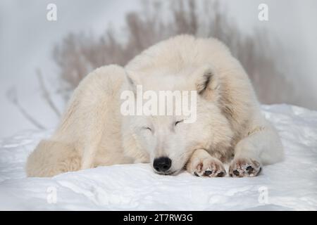
{"label": "whole blurred background of pale sky and brown bushes behind the wolf", "polygon": [[317,110],[316,27],[313,0],[1,0],[0,138],[54,129],[88,72],[185,33],[224,41],[261,103]]}

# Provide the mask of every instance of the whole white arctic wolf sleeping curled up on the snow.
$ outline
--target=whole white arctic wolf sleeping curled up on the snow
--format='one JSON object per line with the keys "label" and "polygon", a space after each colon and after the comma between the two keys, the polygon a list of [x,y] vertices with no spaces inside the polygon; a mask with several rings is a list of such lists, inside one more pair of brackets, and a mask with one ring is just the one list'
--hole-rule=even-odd
{"label": "whole white arctic wolf sleeping curled up on the snow", "polygon": [[[180,115],[123,115],[123,91],[197,91],[195,122]],[[135,95],[137,98],[137,94]],[[27,160],[28,176],[102,165],[149,162],[158,174],[256,176],[282,160],[242,65],[217,39],[180,35],[143,51],[122,68],[107,65],[80,82],[61,124]]]}

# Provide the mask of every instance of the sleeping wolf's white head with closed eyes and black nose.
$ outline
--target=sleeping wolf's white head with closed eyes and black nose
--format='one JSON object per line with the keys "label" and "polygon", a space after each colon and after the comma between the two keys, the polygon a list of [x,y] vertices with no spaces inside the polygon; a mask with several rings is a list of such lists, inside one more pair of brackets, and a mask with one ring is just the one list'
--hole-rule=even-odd
{"label": "sleeping wolf's white head with closed eyes and black nose", "polygon": [[194,150],[228,146],[232,134],[218,103],[221,84],[210,65],[127,73],[123,148],[135,162],[149,161],[158,174],[177,174]]}

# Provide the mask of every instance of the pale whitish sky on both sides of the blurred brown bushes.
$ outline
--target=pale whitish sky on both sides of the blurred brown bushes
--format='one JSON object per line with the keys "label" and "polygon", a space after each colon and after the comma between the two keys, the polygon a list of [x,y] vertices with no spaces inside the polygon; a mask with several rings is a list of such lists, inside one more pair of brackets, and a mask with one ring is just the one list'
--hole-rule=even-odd
{"label": "pale whitish sky on both sides of the blurred brown bushes", "polygon": [[[226,0],[228,13],[244,32],[253,27],[266,27],[287,48],[292,79],[303,86],[311,98],[317,96],[317,2]],[[46,20],[46,6],[54,3],[58,20]],[[258,6],[269,7],[269,21],[260,22]],[[56,68],[51,60],[51,49],[69,32],[91,31],[100,34],[108,23],[122,27],[124,14],[139,7],[139,1],[0,1],[0,137],[11,136],[23,129],[35,129],[6,99],[6,91],[15,86],[20,102],[28,113],[54,128],[58,122],[54,113],[41,100],[35,69],[45,72],[46,86],[58,87]],[[122,30],[119,30],[123,32]],[[57,102],[58,99],[56,99]],[[59,105],[62,109],[63,105]],[[317,108],[313,102],[311,108]]]}

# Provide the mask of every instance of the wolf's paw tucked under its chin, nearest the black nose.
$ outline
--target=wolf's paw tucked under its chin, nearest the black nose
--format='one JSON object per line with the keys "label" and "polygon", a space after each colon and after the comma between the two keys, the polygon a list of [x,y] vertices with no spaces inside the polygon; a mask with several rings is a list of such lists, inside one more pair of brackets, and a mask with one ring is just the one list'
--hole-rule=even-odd
{"label": "wolf's paw tucked under its chin, nearest the black nose", "polygon": [[221,177],[227,174],[223,163],[216,158],[191,160],[187,164],[187,171],[195,176]]}

